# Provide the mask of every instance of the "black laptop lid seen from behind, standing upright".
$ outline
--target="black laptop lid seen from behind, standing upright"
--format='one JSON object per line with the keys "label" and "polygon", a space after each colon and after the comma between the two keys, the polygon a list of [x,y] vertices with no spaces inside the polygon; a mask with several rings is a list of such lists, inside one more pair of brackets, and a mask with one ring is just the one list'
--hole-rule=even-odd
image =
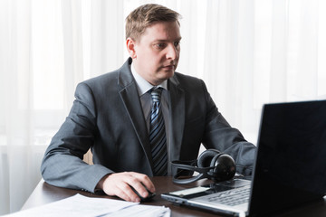
{"label": "black laptop lid seen from behind, standing upright", "polygon": [[249,213],[262,215],[322,198],[326,100],[267,104],[263,113]]}

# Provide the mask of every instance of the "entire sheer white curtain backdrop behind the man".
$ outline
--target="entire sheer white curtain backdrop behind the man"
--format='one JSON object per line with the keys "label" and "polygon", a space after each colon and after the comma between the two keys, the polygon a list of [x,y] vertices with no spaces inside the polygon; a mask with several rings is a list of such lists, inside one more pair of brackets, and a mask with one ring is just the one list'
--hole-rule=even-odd
{"label": "entire sheer white curtain backdrop behind the man", "polygon": [[253,143],[264,103],[326,98],[325,1],[0,0],[0,214],[41,179],[76,84],[127,59],[124,19],[145,3],[182,14],[177,71]]}

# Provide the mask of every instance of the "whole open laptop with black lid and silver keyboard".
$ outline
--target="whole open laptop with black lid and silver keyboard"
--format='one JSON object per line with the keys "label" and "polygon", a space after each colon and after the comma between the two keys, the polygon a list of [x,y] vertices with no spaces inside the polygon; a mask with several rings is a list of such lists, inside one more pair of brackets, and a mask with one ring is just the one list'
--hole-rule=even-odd
{"label": "whole open laptop with black lid and silver keyboard", "polygon": [[161,197],[234,216],[266,216],[326,193],[326,100],[265,104],[251,180],[234,178]]}

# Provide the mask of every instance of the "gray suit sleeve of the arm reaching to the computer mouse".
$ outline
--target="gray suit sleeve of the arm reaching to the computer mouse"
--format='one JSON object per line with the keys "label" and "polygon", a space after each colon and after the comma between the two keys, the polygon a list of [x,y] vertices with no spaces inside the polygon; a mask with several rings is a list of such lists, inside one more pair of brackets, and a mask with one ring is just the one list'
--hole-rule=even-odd
{"label": "gray suit sleeve of the arm reaching to the computer mouse", "polygon": [[45,151],[41,172],[45,182],[55,186],[94,192],[104,175],[113,173],[102,165],[88,165],[83,155],[97,133],[96,104],[89,86],[75,91],[71,112]]}

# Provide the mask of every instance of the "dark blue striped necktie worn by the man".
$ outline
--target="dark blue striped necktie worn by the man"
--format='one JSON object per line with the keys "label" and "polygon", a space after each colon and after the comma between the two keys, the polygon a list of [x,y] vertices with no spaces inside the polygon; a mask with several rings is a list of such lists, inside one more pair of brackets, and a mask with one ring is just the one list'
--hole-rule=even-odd
{"label": "dark blue striped necktie worn by the man", "polygon": [[162,89],[150,90],[152,109],[150,113],[149,143],[154,165],[154,175],[168,175],[167,136],[160,105]]}

